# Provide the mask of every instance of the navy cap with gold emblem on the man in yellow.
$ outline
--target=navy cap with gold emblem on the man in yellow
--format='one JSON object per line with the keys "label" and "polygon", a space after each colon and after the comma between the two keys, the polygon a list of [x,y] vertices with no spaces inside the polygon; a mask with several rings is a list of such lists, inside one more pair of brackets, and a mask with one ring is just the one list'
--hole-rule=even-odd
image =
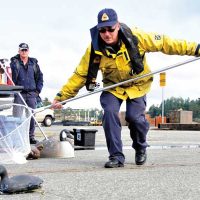
{"label": "navy cap with gold emblem on the man in yellow", "polygon": [[97,28],[114,26],[118,22],[117,13],[111,8],[105,8],[98,14]]}

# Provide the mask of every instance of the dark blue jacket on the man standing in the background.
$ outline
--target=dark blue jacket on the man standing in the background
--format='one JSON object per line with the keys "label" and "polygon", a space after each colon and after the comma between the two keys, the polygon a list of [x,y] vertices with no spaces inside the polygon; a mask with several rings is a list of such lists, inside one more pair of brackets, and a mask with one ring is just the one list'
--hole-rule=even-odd
{"label": "dark blue jacket on the man standing in the background", "polygon": [[35,58],[28,58],[26,65],[20,59],[19,54],[11,58],[12,79],[15,85],[24,87],[22,92],[39,94],[43,87],[43,73]]}

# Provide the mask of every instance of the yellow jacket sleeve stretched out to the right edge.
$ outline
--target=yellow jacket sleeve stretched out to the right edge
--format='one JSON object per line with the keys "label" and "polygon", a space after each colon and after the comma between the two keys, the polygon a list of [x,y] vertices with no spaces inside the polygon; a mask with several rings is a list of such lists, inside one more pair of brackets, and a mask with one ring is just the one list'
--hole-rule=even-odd
{"label": "yellow jacket sleeve stretched out to the right edge", "polygon": [[199,46],[195,42],[172,39],[167,35],[145,33],[135,29],[133,33],[139,39],[139,48],[145,52],[162,52],[168,55],[199,56]]}

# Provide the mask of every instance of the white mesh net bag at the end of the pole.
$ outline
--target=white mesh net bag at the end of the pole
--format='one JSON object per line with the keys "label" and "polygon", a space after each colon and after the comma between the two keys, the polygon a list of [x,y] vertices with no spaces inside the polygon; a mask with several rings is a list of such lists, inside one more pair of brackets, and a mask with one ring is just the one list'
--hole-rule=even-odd
{"label": "white mesh net bag at the end of the pole", "polygon": [[23,164],[31,150],[31,111],[20,104],[0,105],[0,163]]}

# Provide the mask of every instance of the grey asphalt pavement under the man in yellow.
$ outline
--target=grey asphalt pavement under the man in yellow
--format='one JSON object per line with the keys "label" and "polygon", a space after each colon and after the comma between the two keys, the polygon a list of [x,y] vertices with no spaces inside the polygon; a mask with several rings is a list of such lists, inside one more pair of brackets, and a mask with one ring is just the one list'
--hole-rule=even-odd
{"label": "grey asphalt pavement under the man in yellow", "polygon": [[[45,134],[59,136],[62,129],[77,127],[42,127]],[[127,127],[122,128],[126,162],[124,168],[106,169],[108,160],[102,127],[97,129],[94,150],[75,150],[74,158],[40,158],[26,164],[5,165],[9,176],[35,175],[44,180],[42,189],[33,193],[0,195],[9,200],[199,200],[200,131],[151,129],[148,133],[148,159],[135,165],[135,152]],[[37,138],[44,137],[37,128]]]}

